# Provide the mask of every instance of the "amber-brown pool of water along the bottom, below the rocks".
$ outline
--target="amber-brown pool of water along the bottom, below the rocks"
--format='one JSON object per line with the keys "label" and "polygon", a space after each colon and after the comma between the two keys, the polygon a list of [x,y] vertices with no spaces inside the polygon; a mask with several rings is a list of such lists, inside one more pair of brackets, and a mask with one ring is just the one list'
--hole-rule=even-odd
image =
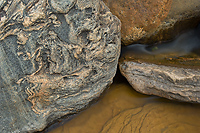
{"label": "amber-brown pool of water along the bottom, below the rocks", "polygon": [[142,95],[118,74],[96,104],[49,133],[189,131],[200,131],[199,104]]}

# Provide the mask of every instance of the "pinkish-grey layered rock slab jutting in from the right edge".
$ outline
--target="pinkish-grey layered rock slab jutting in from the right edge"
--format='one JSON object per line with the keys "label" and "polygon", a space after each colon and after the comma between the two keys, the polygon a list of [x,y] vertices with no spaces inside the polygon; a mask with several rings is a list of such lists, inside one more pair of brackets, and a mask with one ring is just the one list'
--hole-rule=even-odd
{"label": "pinkish-grey layered rock slab jutting in from the right edge", "polygon": [[200,103],[200,72],[172,66],[122,61],[121,73],[138,92]]}

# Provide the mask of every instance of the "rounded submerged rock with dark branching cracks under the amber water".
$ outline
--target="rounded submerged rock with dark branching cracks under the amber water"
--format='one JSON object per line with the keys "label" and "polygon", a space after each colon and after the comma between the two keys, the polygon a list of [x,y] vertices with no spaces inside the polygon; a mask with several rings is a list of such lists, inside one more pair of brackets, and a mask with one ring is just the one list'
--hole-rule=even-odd
{"label": "rounded submerged rock with dark branching cracks under the amber water", "polygon": [[[101,133],[160,133],[185,132],[198,133],[199,120],[196,115],[185,115],[188,109],[169,103],[153,103],[143,107],[125,110],[109,120]],[[196,122],[196,124],[194,124]]]}

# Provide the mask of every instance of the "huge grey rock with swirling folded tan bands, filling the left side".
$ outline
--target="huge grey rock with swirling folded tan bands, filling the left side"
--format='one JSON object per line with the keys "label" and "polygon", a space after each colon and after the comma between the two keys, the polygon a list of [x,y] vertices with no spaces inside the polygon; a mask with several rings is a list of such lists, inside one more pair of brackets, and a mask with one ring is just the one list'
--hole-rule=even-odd
{"label": "huge grey rock with swirling folded tan bands, filling the left side", "polygon": [[120,21],[99,0],[0,2],[0,132],[77,113],[112,83]]}

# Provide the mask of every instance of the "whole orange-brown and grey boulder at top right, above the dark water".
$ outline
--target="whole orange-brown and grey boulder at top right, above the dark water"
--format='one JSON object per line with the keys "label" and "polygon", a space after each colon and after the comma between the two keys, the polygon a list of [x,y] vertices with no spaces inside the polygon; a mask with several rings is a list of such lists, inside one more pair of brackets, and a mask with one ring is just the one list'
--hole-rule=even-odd
{"label": "whole orange-brown and grey boulder at top right, above the dark water", "polygon": [[103,0],[122,21],[122,42],[156,43],[200,22],[199,0]]}

